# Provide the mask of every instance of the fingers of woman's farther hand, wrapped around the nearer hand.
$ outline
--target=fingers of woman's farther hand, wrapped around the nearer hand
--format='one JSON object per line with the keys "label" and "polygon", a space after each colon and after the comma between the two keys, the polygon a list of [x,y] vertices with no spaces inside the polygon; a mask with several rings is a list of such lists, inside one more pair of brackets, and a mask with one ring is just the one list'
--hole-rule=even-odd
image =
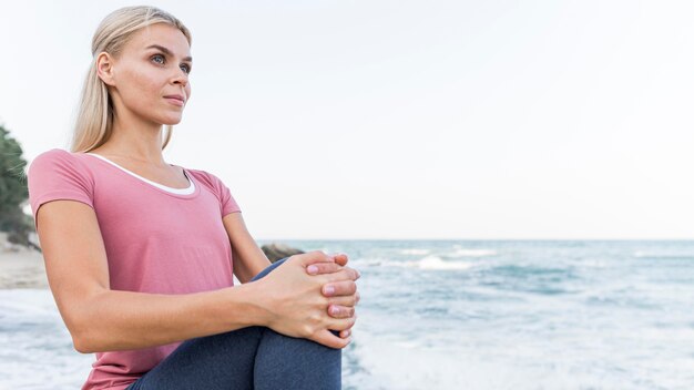
{"label": "fingers of woman's farther hand, wrapped around the nearer hand", "polygon": [[[329,283],[322,288],[323,295],[330,298],[328,315],[334,318],[353,317],[355,316],[355,306],[359,301],[359,292],[357,291],[357,284],[355,283],[360,277],[359,271],[345,267],[349,260],[347,255],[336,254],[330,257],[333,257],[335,263],[317,261],[307,266],[306,271],[309,275],[325,275],[334,274],[345,268],[353,270],[354,279]],[[341,338],[347,338],[350,335],[351,329],[345,329],[339,333]]]}

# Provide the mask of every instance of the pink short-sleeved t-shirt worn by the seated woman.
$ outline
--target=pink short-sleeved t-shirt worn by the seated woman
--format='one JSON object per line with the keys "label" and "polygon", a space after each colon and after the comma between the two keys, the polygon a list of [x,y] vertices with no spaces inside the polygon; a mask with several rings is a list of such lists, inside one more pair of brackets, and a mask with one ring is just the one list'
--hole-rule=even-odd
{"label": "pink short-sleeved t-shirt worn by the seated woman", "polygon": [[[200,170],[184,172],[194,186],[190,194],[147,183],[94,155],[50,150],[32,161],[27,174],[34,223],[39,207],[50,201],[92,207],[113,290],[175,295],[233,286],[232,248],[222,218],[241,209],[220,178]],[[178,345],[98,352],[82,389],[125,389]]]}

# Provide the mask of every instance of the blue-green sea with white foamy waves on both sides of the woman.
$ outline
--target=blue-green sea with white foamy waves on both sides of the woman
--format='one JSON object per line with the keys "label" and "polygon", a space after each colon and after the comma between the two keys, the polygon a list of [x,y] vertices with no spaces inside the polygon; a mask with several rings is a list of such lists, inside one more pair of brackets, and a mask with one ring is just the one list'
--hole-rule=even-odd
{"label": "blue-green sea with white foamy waves on both sides of the woman", "polygon": [[[361,273],[344,389],[694,389],[694,242],[279,242]],[[93,360],[50,290],[0,290],[0,389]]]}

